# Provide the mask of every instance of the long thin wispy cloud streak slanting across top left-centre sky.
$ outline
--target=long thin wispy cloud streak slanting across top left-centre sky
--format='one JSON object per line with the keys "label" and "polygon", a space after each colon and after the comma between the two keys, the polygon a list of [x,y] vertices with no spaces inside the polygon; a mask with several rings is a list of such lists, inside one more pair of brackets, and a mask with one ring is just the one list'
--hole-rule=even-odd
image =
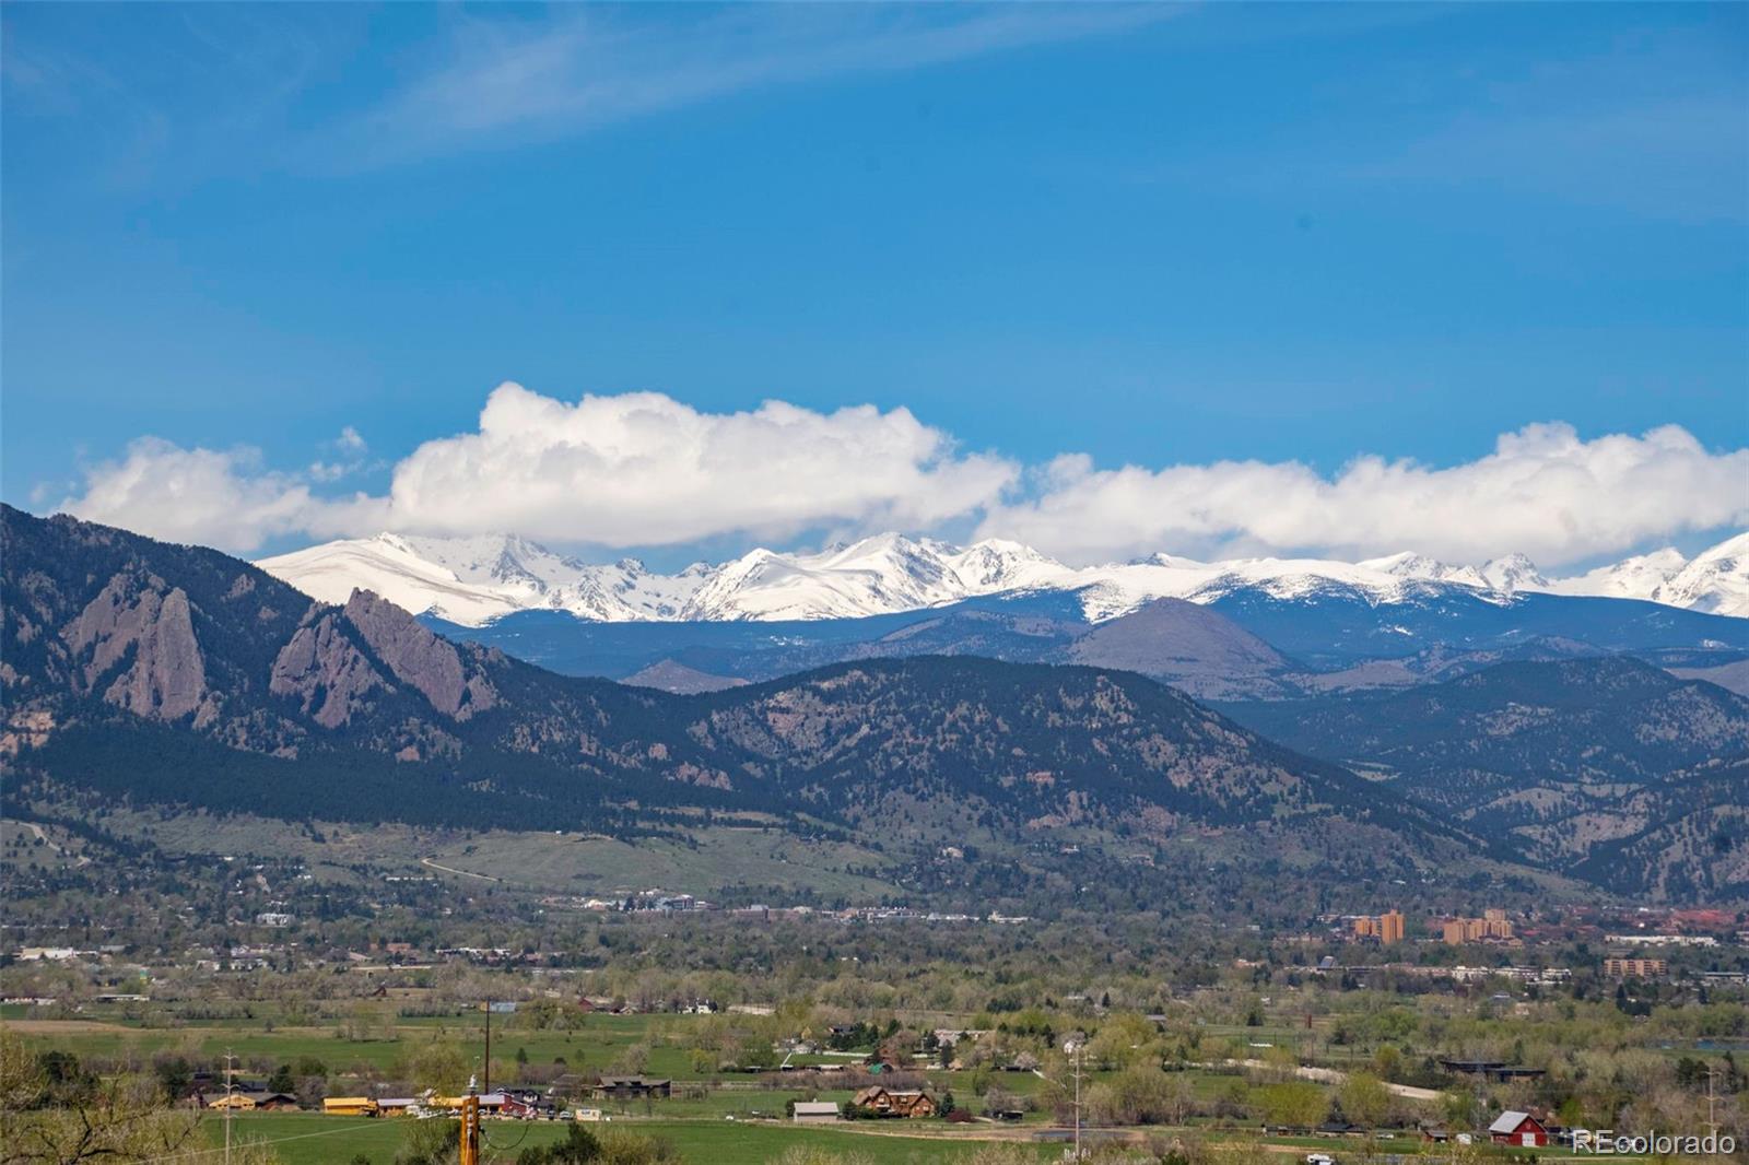
{"label": "long thin wispy cloud streak slanting across top left-centre sky", "polygon": [[[747,5],[458,16],[423,70],[299,143],[373,168],[582,133],[754,89],[944,65],[1154,24],[1179,5]],[[654,14],[654,16],[652,16]]]}

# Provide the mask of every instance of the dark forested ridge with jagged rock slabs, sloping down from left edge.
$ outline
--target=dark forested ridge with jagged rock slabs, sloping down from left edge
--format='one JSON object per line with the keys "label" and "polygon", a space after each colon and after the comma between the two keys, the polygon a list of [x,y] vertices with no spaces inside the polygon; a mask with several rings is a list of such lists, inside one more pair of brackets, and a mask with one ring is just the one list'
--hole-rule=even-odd
{"label": "dark forested ridge with jagged rock slabs, sloping down from left edge", "polygon": [[[49,787],[332,820],[635,831],[675,813],[798,829],[1247,822],[1438,838],[1347,770],[1132,672],[866,659],[680,696],[329,605],[217,551],[0,507],[9,798]],[[812,822],[812,824],[810,824]]]}

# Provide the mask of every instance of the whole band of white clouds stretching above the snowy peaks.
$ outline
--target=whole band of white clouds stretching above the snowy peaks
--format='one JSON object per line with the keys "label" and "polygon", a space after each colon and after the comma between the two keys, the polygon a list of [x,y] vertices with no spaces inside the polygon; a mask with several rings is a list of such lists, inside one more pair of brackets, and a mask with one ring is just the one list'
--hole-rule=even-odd
{"label": "whole band of white clouds stretching above the snowy peaks", "polygon": [[1334,476],[1298,462],[1100,469],[1079,453],[1023,472],[902,408],[705,413],[661,394],[570,402],[512,383],[474,432],[401,460],[387,495],[320,495],[324,479],[262,469],[248,450],[142,439],[89,467],[63,509],[233,551],[380,530],[642,548],[976,523],[1076,563],[1411,549],[1473,563],[1523,551],[1562,567],[1749,525],[1749,450],[1709,451],[1676,425],[1590,441],[1529,425],[1473,462],[1359,457]]}

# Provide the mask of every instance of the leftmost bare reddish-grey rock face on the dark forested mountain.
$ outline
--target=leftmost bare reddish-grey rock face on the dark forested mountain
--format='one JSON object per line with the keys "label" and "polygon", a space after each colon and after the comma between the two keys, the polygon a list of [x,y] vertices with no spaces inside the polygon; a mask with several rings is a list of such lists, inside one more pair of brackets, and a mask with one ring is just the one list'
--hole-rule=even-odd
{"label": "leftmost bare reddish-grey rock face on the dark forested mountain", "polygon": [[180,586],[166,589],[163,579],[114,576],[61,630],[61,640],[73,652],[82,687],[103,686],[103,700],[135,715],[175,721],[199,708],[206,696],[206,665],[194,638],[189,596]]}

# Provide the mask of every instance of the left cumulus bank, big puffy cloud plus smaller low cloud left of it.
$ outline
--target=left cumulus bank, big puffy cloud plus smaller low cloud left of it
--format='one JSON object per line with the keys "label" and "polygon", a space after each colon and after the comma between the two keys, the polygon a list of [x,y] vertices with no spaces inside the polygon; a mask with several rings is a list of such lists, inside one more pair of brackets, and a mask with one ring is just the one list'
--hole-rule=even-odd
{"label": "left cumulus bank, big puffy cloud plus smaller low cloud left of it", "polygon": [[902,408],[768,401],[701,413],[659,394],[572,404],[505,383],[476,432],[427,441],[397,464],[387,497],[315,497],[311,483],[331,476],[320,462],[294,478],[262,471],[247,450],[147,439],[87,471],[63,509],[243,551],[290,532],[385,528],[663,546],[820,527],[927,530],[979,513],[1018,474],[1004,458],[962,455]]}

